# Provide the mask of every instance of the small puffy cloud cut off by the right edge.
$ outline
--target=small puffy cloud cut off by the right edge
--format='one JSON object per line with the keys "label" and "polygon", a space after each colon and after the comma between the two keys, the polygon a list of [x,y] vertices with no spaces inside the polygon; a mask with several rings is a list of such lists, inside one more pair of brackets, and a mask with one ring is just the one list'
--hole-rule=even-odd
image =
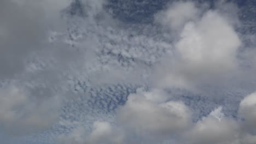
{"label": "small puffy cloud cut off by the right edge", "polygon": [[245,119],[243,125],[247,130],[255,132],[256,129],[256,93],[249,94],[240,103],[239,114]]}

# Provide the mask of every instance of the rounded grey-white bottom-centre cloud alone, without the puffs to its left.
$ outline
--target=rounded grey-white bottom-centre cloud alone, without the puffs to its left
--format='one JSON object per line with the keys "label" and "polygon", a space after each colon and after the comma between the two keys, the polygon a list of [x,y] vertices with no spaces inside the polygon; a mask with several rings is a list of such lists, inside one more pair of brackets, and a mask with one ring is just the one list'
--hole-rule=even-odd
{"label": "rounded grey-white bottom-centre cloud alone, without the puffs to its left", "polygon": [[[154,95],[152,95],[154,94]],[[137,135],[172,136],[190,124],[190,111],[182,101],[161,101],[161,93],[131,94],[118,113],[119,123]]]}

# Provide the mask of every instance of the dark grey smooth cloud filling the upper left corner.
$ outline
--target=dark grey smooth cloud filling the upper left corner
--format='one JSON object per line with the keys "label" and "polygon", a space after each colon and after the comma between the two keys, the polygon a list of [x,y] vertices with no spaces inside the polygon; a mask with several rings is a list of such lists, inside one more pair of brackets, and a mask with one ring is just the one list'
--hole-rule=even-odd
{"label": "dark grey smooth cloud filling the upper left corner", "polygon": [[60,9],[67,4],[68,0],[0,2],[1,79],[21,73],[26,57],[45,48],[49,31],[63,30]]}

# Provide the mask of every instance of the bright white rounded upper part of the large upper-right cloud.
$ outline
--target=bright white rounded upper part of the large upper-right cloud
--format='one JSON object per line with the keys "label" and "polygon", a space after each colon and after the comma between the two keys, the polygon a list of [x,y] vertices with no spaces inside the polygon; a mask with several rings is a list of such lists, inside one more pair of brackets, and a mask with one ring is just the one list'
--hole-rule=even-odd
{"label": "bright white rounded upper part of the large upper-right cloud", "polygon": [[176,47],[190,68],[220,71],[236,66],[241,41],[234,28],[218,13],[208,11],[198,23],[187,23],[180,36]]}

